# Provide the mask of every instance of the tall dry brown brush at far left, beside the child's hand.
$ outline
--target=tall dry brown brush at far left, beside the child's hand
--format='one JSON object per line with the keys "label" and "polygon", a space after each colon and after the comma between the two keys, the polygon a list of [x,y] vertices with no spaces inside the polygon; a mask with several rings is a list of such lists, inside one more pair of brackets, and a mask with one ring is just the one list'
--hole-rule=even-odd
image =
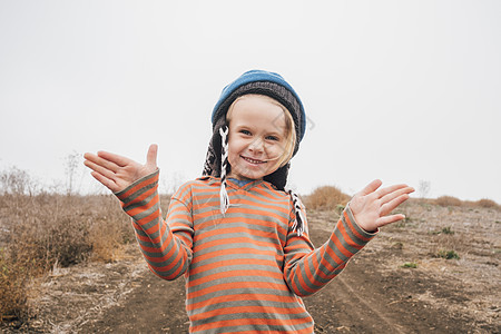
{"label": "tall dry brown brush at far left, beside the child's hand", "polygon": [[[114,261],[134,239],[114,196],[0,196],[0,318],[27,313],[28,282],[53,266]],[[95,254],[96,253],[96,254]]]}

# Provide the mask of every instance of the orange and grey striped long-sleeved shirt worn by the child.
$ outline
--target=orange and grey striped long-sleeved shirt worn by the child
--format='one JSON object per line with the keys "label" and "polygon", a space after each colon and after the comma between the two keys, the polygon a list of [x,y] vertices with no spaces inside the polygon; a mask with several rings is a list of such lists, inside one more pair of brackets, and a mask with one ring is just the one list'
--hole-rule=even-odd
{"label": "orange and grey striped long-sleeved shirt worn by the child", "polygon": [[293,230],[291,196],[264,180],[227,180],[224,216],[219,178],[188,181],[164,220],[157,186],[158,170],[116,195],[151,272],[165,279],[185,275],[190,333],[313,333],[301,297],[325,286],[375,235],[346,207],[315,249],[307,230]]}

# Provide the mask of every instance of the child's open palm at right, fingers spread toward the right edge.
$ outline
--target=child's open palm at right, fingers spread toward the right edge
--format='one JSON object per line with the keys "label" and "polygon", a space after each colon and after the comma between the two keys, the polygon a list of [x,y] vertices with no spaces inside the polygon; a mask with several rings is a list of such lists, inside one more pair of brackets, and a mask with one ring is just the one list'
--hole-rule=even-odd
{"label": "child's open palm at right, fingers spread toward the right edge", "polygon": [[350,208],[360,227],[374,232],[379,227],[402,220],[402,214],[390,215],[393,209],[409,199],[414,188],[407,185],[394,185],[381,188],[382,181],[370,183],[362,191],[353,196]]}

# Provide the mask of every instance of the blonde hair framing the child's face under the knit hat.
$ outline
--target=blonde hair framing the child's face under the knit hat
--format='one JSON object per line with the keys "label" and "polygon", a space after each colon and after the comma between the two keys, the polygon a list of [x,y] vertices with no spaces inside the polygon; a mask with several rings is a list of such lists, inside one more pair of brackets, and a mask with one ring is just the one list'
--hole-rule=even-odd
{"label": "blonde hair framing the child's face under the knit hat", "polygon": [[232,112],[233,109],[236,105],[237,101],[244,99],[245,97],[249,97],[249,96],[257,96],[264,99],[267,99],[269,102],[281,107],[282,111],[284,111],[284,116],[285,116],[285,145],[283,147],[284,153],[282,154],[282,156],[279,157],[278,161],[279,161],[279,166],[283,167],[285,166],[288,160],[291,160],[293,154],[294,154],[294,147],[296,144],[296,128],[294,125],[294,119],[291,115],[291,112],[287,110],[287,108],[284,107],[284,105],[282,105],[281,102],[278,102],[277,100],[275,100],[272,97],[268,97],[266,95],[261,95],[261,94],[247,94],[247,95],[243,95],[240,97],[238,97],[235,101],[233,101],[233,104],[229,106],[228,108],[228,112],[226,112],[226,121],[230,122],[232,119]]}

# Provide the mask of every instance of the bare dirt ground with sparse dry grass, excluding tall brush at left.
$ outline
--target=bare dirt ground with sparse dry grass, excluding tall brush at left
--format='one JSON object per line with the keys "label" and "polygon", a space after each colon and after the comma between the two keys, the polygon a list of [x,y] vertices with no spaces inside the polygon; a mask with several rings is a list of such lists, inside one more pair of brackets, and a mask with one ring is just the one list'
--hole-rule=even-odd
{"label": "bare dirt ground with sparse dry grass, excluding tall brush at left", "polygon": [[[501,212],[409,204],[317,294],[316,333],[501,333]],[[336,222],[310,212],[315,245]],[[451,253],[453,250],[454,253]],[[446,252],[459,256],[445,258]],[[150,274],[136,245],[122,259],[57,268],[33,294],[33,318],[4,333],[187,333],[184,281]]]}

